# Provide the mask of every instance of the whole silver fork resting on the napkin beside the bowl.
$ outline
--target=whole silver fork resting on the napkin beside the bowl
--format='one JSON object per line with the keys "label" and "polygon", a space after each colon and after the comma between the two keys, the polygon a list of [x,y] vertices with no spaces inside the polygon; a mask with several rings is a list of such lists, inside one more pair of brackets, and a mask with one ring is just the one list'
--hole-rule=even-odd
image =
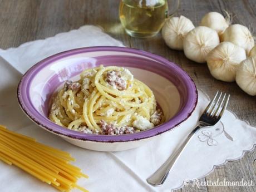
{"label": "whole silver fork resting on the napkin beside the bowl", "polygon": [[[210,101],[209,105],[206,107],[203,114],[201,115],[198,125],[196,125],[196,127],[186,137],[185,141],[183,142],[183,144],[181,144],[179,149],[173,155],[171,155],[168,158],[168,160],[166,160],[165,163],[155,171],[154,174],[147,178],[147,183],[149,183],[152,186],[163,185],[165,179],[167,178],[168,174],[171,171],[171,168],[173,168],[181,152],[184,150],[186,144],[188,144],[189,140],[191,139],[191,137],[193,137],[195,132],[201,129],[202,127],[214,126],[215,124],[217,124],[217,122],[219,122],[221,116],[224,114],[224,111],[227,108],[230,97],[230,95],[227,96],[227,94],[224,93],[224,96],[221,99],[222,95],[222,92],[220,92],[220,94],[219,91],[216,92],[213,100]],[[219,103],[220,100],[221,102]]]}

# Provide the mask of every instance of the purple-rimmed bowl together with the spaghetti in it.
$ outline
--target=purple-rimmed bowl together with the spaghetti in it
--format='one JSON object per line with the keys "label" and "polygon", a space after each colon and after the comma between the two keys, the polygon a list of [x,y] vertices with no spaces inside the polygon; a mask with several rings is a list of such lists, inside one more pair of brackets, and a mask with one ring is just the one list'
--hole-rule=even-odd
{"label": "purple-rimmed bowl together with the spaghetti in it", "polygon": [[24,74],[17,96],[38,126],[97,151],[141,146],[182,124],[198,101],[193,80],[175,63],[125,47],[78,48],[48,57]]}

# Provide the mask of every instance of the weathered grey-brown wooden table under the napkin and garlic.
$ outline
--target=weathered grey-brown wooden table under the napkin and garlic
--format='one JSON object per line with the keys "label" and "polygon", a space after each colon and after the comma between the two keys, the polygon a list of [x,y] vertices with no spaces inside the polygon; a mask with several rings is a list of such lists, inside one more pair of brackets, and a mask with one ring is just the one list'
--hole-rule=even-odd
{"label": "weathered grey-brown wooden table under the napkin and garlic", "polygon": [[[244,93],[236,83],[225,83],[211,77],[205,64],[188,60],[182,51],[168,48],[161,35],[146,40],[132,38],[124,32],[119,22],[117,0],[0,0],[0,47],[17,47],[24,42],[54,36],[76,29],[84,24],[102,26],[112,37],[132,48],[153,52],[180,65],[193,78],[198,88],[213,96],[216,90],[229,92],[232,97],[229,109],[240,119],[256,125],[256,97]],[[256,29],[255,0],[181,0],[176,15],[184,15],[198,25],[203,15],[223,10],[235,14],[233,23],[252,24]],[[256,30],[255,30],[256,31]],[[246,152],[240,160],[219,166],[201,181],[253,180],[256,185],[256,150]],[[196,187],[184,186],[178,191],[256,191],[253,187]]]}

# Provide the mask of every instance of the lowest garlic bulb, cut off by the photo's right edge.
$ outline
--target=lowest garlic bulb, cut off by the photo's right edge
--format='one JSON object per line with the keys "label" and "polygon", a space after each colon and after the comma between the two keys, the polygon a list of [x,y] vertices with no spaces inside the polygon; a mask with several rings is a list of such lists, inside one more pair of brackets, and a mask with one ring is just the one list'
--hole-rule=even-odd
{"label": "lowest garlic bulb, cut off by the photo's right edge", "polygon": [[256,95],[256,56],[240,63],[235,81],[249,95]]}

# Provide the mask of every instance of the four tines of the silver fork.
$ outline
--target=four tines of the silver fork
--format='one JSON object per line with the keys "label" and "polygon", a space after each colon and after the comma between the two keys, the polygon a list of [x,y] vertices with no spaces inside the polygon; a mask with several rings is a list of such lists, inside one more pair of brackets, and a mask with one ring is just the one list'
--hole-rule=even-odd
{"label": "four tines of the silver fork", "polygon": [[210,104],[206,107],[204,114],[217,118],[221,117],[228,106],[229,97],[229,94],[227,95],[226,93],[223,94],[223,92],[219,93],[219,91],[217,91],[213,100],[211,100]]}

